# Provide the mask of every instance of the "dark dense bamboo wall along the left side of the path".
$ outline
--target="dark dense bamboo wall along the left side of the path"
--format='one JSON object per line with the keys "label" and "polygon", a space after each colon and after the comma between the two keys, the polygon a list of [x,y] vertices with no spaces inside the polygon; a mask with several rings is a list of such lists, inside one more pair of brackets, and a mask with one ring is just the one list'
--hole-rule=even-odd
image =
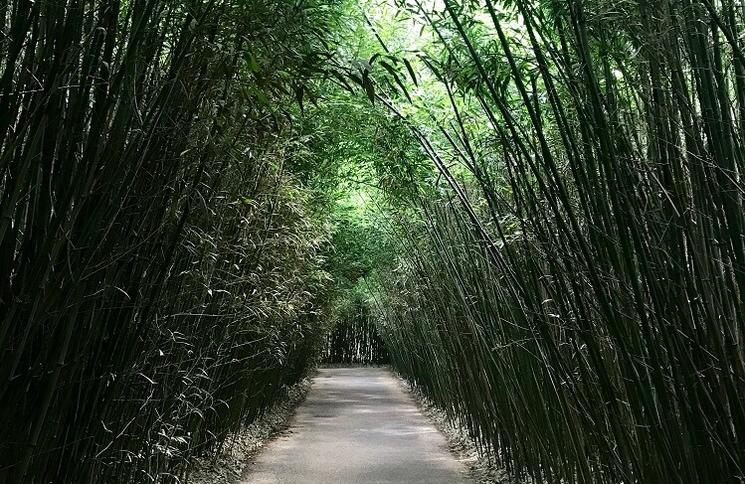
{"label": "dark dense bamboo wall along the left side of the path", "polygon": [[0,481],[175,482],[304,374],[337,7],[0,3]]}

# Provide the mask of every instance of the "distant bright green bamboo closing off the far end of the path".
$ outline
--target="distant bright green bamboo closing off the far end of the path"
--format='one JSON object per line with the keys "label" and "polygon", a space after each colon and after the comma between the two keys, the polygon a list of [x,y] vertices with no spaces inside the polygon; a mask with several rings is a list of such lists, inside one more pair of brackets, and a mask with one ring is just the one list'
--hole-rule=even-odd
{"label": "distant bright green bamboo closing off the far end of the path", "polygon": [[[416,171],[417,163],[410,156],[416,152],[421,158],[409,128],[350,85],[355,74],[345,71],[370,51],[368,33],[351,29],[361,23],[357,8],[348,12],[350,30],[337,39],[338,56],[331,64],[335,76],[319,89],[319,102],[306,109],[301,128],[307,156],[299,163],[311,175],[309,187],[333,207],[323,263],[332,283],[326,292],[321,355],[331,364],[388,362],[370,294],[392,251],[378,226],[411,191],[405,173]],[[373,206],[379,209],[370,210]]]}

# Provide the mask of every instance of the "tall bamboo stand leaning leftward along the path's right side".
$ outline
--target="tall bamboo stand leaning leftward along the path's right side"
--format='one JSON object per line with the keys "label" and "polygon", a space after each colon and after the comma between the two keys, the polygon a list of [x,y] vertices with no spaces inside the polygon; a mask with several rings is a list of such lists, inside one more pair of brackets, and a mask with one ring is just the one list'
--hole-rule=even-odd
{"label": "tall bamboo stand leaning leftward along the path's right side", "polygon": [[516,476],[742,482],[742,5],[398,6],[445,102],[375,95],[449,192],[391,227],[394,366]]}

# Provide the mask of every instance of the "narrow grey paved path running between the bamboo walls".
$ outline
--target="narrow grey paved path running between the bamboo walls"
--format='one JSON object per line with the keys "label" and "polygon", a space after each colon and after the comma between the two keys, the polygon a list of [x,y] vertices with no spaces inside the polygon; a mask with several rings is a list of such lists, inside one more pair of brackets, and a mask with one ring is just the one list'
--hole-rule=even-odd
{"label": "narrow grey paved path running between the bamboo walls", "polygon": [[469,482],[442,434],[380,368],[320,370],[290,432],[250,469],[244,484]]}

